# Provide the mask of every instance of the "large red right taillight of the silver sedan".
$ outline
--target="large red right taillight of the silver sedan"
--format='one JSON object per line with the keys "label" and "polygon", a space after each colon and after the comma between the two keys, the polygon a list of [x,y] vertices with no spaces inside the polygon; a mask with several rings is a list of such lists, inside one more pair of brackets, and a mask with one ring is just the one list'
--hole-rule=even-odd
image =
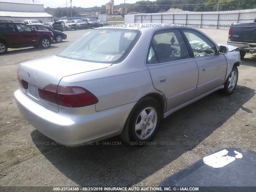
{"label": "large red right taillight of the silver sedan", "polygon": [[98,98],[82,87],[49,84],[38,89],[39,97],[64,107],[84,107],[98,103]]}

